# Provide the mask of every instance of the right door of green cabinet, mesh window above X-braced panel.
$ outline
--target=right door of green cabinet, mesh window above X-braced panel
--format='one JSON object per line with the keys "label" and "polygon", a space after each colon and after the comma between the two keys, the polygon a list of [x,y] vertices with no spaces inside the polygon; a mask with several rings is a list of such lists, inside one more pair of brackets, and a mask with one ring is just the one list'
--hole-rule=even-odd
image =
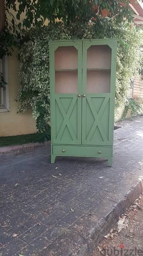
{"label": "right door of green cabinet, mesh window above X-braced panel", "polygon": [[112,145],[116,41],[83,41],[82,144]]}

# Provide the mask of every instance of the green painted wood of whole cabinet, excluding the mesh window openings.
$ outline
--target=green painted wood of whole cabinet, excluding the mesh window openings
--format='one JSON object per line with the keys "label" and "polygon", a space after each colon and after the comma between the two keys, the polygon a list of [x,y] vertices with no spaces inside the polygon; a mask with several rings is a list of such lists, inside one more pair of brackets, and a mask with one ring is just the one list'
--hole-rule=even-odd
{"label": "green painted wood of whole cabinet, excluding the mesh window openings", "polygon": [[[108,45],[112,50],[111,70],[88,69],[93,72],[111,71],[109,93],[87,93],[87,49],[93,45]],[[49,46],[51,163],[55,162],[56,156],[106,157],[109,166],[112,166],[117,41],[114,39],[51,41]],[[77,93],[55,93],[54,55],[55,50],[62,46],[74,46],[78,50]],[[57,71],[62,72],[62,70]],[[67,67],[63,71],[73,70]],[[81,94],[81,97],[77,94]],[[83,97],[84,94],[86,97]]]}

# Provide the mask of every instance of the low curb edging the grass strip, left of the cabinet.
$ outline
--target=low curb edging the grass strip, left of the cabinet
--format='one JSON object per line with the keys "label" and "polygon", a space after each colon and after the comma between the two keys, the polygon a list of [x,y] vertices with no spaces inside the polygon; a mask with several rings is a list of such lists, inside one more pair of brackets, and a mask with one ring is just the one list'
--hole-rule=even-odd
{"label": "low curb edging the grass strip, left of the cabinet", "polygon": [[27,143],[27,144],[21,144],[21,145],[0,147],[0,153],[7,153],[10,151],[16,151],[16,150],[22,150],[22,149],[28,149],[28,148],[38,148],[46,145],[50,145],[50,140],[45,141],[44,143],[36,142],[36,143]]}

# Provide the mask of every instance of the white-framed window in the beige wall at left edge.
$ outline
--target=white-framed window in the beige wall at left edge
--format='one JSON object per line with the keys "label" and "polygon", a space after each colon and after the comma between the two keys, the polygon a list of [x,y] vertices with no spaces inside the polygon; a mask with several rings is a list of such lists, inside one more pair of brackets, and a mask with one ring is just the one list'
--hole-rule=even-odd
{"label": "white-framed window in the beige wall at left edge", "polygon": [[0,88],[0,112],[9,111],[9,90],[8,90],[8,57],[0,59],[0,73],[3,73],[3,79],[6,81],[6,88]]}

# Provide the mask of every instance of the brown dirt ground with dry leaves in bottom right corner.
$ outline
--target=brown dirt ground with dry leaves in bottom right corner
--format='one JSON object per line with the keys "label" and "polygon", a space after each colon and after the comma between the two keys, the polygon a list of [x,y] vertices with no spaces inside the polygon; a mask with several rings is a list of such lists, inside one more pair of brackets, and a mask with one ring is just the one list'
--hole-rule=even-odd
{"label": "brown dirt ground with dry leaves in bottom right corner", "polygon": [[122,219],[125,219],[124,227],[118,232],[116,225],[91,256],[143,256],[143,193],[135,201]]}

